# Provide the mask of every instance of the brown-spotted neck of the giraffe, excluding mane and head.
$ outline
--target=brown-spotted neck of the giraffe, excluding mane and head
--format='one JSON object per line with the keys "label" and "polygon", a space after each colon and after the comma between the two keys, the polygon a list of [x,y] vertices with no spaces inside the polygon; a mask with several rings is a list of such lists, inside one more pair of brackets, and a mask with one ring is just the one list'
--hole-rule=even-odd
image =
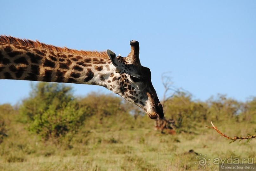
{"label": "brown-spotted neck of the giraffe, excluding mane and head", "polygon": [[0,43],[0,79],[102,85],[111,89],[109,59]]}

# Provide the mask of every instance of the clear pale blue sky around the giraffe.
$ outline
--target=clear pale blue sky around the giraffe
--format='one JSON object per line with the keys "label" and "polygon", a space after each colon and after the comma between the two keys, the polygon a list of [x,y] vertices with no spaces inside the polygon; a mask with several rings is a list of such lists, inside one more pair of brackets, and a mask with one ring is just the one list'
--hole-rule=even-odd
{"label": "clear pale blue sky around the giraffe", "polygon": [[[0,34],[77,50],[127,56],[140,43],[159,98],[161,74],[207,100],[218,93],[239,101],[256,96],[256,1],[1,1]],[[0,104],[28,97],[30,81],[0,80]],[[112,93],[76,85],[75,95]]]}

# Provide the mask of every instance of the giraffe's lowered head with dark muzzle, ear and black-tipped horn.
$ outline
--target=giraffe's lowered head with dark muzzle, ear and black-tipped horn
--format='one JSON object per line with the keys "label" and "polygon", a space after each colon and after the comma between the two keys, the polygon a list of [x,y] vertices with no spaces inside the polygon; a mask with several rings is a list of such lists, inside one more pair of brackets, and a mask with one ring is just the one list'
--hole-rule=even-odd
{"label": "giraffe's lowered head with dark muzzle, ear and black-tipped horn", "polygon": [[131,52],[127,57],[116,56],[114,52],[107,50],[115,71],[110,75],[109,89],[139,106],[151,119],[162,119],[163,108],[152,85],[150,69],[141,66],[139,42],[131,40],[130,45]]}

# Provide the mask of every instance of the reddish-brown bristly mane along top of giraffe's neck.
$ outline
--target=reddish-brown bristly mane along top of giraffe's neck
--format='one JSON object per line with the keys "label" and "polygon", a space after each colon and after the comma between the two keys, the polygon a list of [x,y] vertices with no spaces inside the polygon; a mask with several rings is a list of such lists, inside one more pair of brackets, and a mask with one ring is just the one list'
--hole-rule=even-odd
{"label": "reddish-brown bristly mane along top of giraffe's neck", "polygon": [[44,44],[39,42],[38,40],[33,41],[30,39],[20,39],[12,36],[0,35],[0,43],[25,46],[29,48],[52,51],[56,53],[66,54],[66,55],[78,55],[78,56],[85,56],[85,57],[108,59],[108,54],[106,51],[74,50],[74,49],[69,49],[67,47],[57,47],[49,44]]}

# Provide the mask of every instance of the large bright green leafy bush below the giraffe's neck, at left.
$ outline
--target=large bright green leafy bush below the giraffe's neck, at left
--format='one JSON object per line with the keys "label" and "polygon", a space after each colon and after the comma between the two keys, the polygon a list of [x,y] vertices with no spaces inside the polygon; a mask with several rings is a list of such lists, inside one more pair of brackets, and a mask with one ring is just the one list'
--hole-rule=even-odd
{"label": "large bright green leafy bush below the giraffe's neck, at left", "polygon": [[56,144],[67,133],[76,133],[87,116],[86,109],[79,108],[70,86],[45,82],[32,85],[30,97],[23,101],[20,112],[27,116],[30,131]]}

